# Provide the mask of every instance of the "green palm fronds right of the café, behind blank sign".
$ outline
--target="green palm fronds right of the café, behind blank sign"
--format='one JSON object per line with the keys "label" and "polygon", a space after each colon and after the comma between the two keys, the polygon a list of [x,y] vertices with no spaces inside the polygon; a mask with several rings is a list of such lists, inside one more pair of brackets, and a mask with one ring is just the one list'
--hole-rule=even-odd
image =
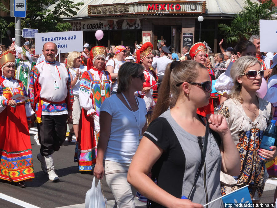
{"label": "green palm fronds right of the caf\u00e9, behind blank sign", "polygon": [[249,39],[251,35],[259,34],[259,20],[272,19],[276,10],[271,11],[274,6],[272,0],[263,3],[245,0],[243,10],[235,16],[230,25],[219,24],[219,30],[223,33],[227,43],[237,43],[243,39]]}

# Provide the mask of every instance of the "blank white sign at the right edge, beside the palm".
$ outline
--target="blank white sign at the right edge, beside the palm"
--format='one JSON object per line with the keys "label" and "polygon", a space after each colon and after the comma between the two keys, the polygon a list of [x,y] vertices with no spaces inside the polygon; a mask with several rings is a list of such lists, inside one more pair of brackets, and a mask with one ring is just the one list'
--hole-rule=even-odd
{"label": "blank white sign at the right edge, beside the palm", "polygon": [[260,51],[277,52],[277,21],[260,19]]}

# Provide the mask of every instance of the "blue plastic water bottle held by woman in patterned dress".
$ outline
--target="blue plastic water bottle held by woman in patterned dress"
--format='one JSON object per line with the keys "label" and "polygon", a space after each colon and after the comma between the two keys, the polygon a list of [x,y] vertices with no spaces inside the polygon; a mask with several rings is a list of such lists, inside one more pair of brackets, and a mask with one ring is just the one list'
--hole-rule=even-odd
{"label": "blue plastic water bottle held by woman in patterned dress", "polygon": [[276,120],[272,119],[271,123],[267,126],[267,129],[263,132],[263,139],[261,141],[260,148],[272,151],[272,149],[269,148],[274,145],[276,138],[275,123]]}

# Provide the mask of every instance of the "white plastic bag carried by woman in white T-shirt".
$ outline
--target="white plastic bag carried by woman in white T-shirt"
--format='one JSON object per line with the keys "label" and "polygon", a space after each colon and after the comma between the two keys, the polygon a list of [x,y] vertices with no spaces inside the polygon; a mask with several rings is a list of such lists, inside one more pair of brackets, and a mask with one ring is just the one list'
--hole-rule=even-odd
{"label": "white plastic bag carried by woman in white T-shirt", "polygon": [[86,192],[86,208],[106,208],[106,199],[101,190],[100,180],[95,187],[95,177],[93,177],[91,189]]}

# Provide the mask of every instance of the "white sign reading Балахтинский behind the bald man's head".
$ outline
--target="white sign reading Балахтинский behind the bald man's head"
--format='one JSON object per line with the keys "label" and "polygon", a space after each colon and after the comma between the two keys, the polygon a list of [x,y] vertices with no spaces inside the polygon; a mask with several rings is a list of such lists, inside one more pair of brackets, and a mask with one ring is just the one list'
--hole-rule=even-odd
{"label": "white sign reading \u0411\u0430\u043b\u0430\u0445\u0442\u0438\u043d\u0441\u043a\u0438\u0439 behind the bald man's head", "polygon": [[42,53],[43,44],[47,42],[56,43],[61,53],[83,51],[83,31],[35,33],[36,54]]}

